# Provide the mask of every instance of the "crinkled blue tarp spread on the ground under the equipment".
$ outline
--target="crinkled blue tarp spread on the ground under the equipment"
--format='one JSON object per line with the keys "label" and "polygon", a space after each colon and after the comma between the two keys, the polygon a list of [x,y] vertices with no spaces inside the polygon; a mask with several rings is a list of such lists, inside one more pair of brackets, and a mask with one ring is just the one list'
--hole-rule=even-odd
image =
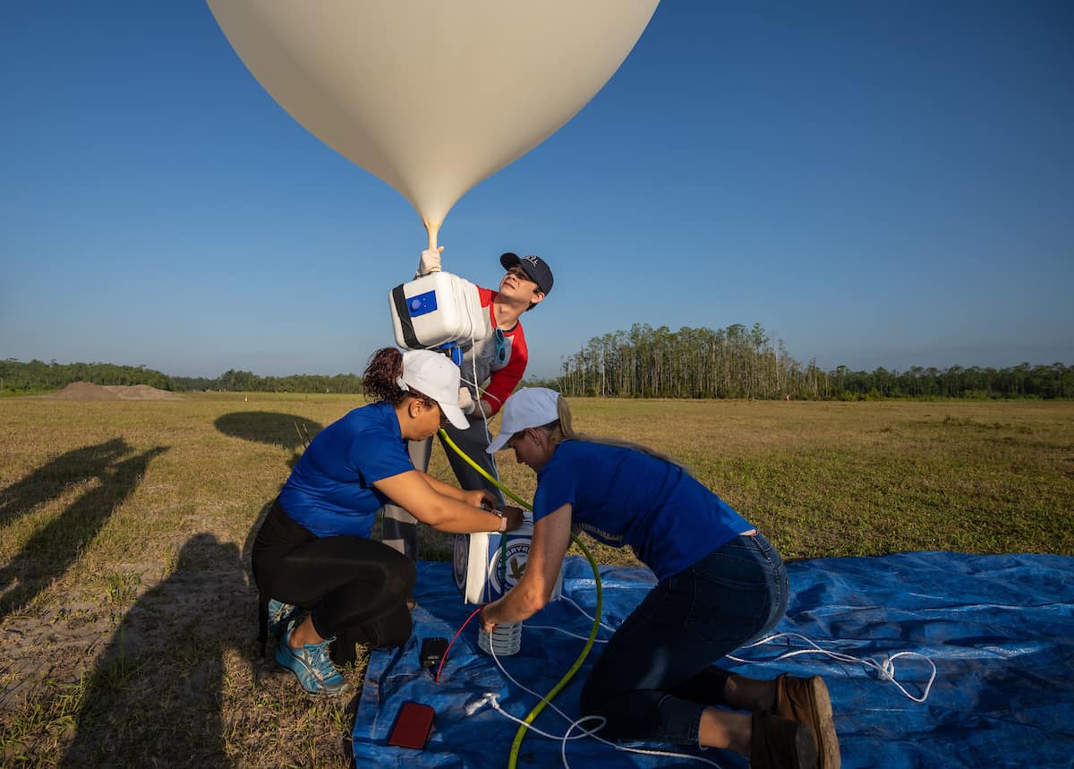
{"label": "crinkled blue tarp spread on the ground under the equipment", "polygon": [[[938,669],[927,700],[919,703],[874,670],[819,654],[753,664],[725,661],[725,667],[755,678],[774,678],[784,670],[824,676],[844,767],[1074,767],[1074,557],[917,552],[806,561],[788,570],[792,599],[777,632],[802,634],[825,649],[877,662],[901,651],[918,652]],[[653,582],[642,568],[601,567],[600,577],[603,621],[613,627]],[[592,613],[596,594],[584,560],[567,560],[564,594]],[[493,692],[505,710],[522,719],[535,698],[509,683],[477,649],[476,619],[451,648],[440,681],[434,682],[418,661],[421,639],[450,639],[475,607],[461,601],[450,564],[419,564],[417,598],[410,641],[371,657],[354,720],[358,766],[506,766],[517,724],[488,706],[471,715],[466,708]],[[553,603],[527,624],[583,637],[591,627],[566,601]],[[598,637],[608,635],[601,630]],[[521,652],[502,661],[521,683],[546,694],[583,645],[583,640],[554,630],[527,627]],[[770,661],[804,647],[784,638],[736,656]],[[599,650],[594,645],[591,658],[554,699],[572,719],[578,717],[581,682]],[[931,667],[914,657],[898,657],[894,665],[896,680],[920,696]],[[424,751],[387,745],[407,700],[436,710]],[[567,722],[546,708],[535,725],[562,735]],[[529,734],[519,766],[562,766],[560,749],[560,741]],[[724,767],[746,766],[723,751],[703,756]],[[587,738],[570,741],[567,758],[572,767],[702,766],[616,752]]]}

